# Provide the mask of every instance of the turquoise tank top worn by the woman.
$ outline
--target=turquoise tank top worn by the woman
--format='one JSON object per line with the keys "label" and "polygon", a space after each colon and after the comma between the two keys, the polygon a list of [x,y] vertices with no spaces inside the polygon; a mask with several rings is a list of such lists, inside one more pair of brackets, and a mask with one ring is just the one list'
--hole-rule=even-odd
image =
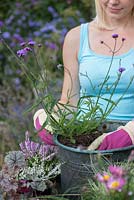
{"label": "turquoise tank top worn by the woman", "polygon": [[[92,100],[95,102],[97,99],[96,95],[99,93],[100,84],[103,82],[108,71],[111,56],[100,55],[92,51],[89,44],[88,34],[90,34],[90,23],[82,24],[80,31],[80,49],[78,53],[80,96],[94,95]],[[121,79],[112,97],[114,102],[117,102],[121,97],[126,90],[130,79],[134,76],[134,48],[130,49],[127,53],[114,56],[109,74],[110,78],[101,91],[102,97],[106,99],[109,99],[110,97],[110,90],[107,90],[106,87],[112,86],[117,80],[120,63],[121,67],[126,70],[122,73]],[[101,105],[101,108],[104,110],[106,108],[106,101],[100,99],[99,105]],[[83,103],[82,108],[86,109],[86,104]],[[134,119],[134,81],[123,96],[122,100],[108,115],[107,119],[123,121]]]}

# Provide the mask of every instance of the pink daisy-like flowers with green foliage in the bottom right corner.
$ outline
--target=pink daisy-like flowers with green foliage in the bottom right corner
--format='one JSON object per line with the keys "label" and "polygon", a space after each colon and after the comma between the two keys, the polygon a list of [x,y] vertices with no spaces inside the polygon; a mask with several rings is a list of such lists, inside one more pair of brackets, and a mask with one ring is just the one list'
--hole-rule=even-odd
{"label": "pink daisy-like flowers with green foliage in the bottom right corner", "polygon": [[[134,171],[133,152],[128,162],[109,165],[95,174],[89,182],[84,198],[91,200],[133,200],[134,199]],[[99,195],[98,195],[99,194]]]}

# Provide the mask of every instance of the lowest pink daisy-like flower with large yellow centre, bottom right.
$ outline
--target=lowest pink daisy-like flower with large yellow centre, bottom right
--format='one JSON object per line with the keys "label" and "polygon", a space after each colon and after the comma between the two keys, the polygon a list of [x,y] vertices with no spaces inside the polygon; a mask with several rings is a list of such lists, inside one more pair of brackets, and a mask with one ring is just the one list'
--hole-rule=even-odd
{"label": "lowest pink daisy-like flower with large yellow centre, bottom right", "polygon": [[126,180],[124,178],[110,177],[110,179],[106,183],[106,187],[109,190],[121,191],[125,184],[126,184]]}

